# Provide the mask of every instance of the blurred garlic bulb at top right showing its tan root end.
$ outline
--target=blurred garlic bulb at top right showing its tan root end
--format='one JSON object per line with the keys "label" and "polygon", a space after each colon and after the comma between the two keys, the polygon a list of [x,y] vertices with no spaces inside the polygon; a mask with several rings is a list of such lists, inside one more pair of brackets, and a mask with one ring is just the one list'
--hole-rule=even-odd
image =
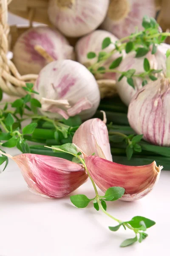
{"label": "blurred garlic bulb at top right showing its tan root end", "polygon": [[118,38],[124,38],[134,33],[136,26],[139,31],[143,30],[144,15],[155,17],[155,0],[110,0],[108,12],[101,27]]}

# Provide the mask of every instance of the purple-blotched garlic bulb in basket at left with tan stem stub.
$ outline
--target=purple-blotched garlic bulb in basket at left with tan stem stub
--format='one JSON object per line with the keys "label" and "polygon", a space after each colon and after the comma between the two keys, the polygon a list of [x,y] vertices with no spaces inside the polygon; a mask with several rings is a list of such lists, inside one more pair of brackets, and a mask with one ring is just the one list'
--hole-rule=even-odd
{"label": "purple-blotched garlic bulb in basket at left with tan stem stub", "polygon": [[28,29],[18,38],[13,52],[14,64],[21,75],[38,74],[51,61],[74,57],[67,39],[47,26]]}

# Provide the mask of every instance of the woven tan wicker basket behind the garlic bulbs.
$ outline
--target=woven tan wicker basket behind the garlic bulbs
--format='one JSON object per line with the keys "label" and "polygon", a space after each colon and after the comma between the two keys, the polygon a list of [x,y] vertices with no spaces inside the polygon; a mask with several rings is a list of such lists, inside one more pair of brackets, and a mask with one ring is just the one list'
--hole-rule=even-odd
{"label": "woven tan wicker basket behind the garlic bulbs", "polygon": [[[156,0],[160,7],[161,1]],[[21,76],[13,62],[7,58],[7,52],[12,50],[17,38],[32,26],[32,22],[52,26],[47,15],[48,0],[0,0],[0,88],[9,95],[23,96],[26,82],[33,82],[37,75],[28,74]],[[29,20],[28,27],[17,27],[8,25],[8,11]],[[162,15],[161,15],[162,16]],[[68,38],[74,45],[75,38]],[[104,80],[98,82],[101,97],[113,96],[116,93],[115,81]]]}

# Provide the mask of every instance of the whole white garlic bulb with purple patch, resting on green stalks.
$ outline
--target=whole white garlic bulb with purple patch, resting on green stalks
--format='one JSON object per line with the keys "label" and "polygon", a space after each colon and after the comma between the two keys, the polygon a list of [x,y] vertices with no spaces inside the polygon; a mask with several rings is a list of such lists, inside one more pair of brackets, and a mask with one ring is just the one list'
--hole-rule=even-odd
{"label": "whole white garlic bulb with purple patch, resting on green stalks", "polygon": [[53,61],[45,66],[36,81],[37,99],[41,112],[50,118],[68,119],[79,114],[82,119],[94,115],[100,102],[98,84],[82,64],[71,61]]}

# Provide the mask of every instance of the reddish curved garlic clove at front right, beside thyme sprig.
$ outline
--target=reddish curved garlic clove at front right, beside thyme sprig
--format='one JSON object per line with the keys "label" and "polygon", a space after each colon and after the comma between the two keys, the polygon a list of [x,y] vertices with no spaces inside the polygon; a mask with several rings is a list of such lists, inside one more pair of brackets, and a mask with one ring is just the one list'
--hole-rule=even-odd
{"label": "reddish curved garlic clove at front right, beside thyme sprig", "polygon": [[155,161],[145,166],[125,166],[95,156],[89,156],[85,163],[102,192],[113,186],[123,187],[123,201],[138,200],[151,192],[163,168],[157,167]]}

